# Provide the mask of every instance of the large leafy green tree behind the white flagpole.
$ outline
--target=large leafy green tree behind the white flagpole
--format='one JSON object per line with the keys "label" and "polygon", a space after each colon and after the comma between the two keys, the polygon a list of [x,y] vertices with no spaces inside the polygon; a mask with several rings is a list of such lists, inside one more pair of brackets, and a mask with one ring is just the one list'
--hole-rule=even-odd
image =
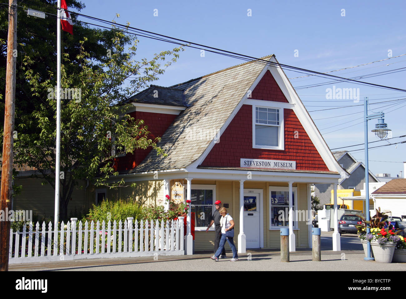
{"label": "large leafy green tree behind the white flagpole", "polygon": [[[39,2],[43,3],[54,4]],[[73,4],[76,9],[84,7],[80,2]],[[44,11],[44,8],[39,10]],[[22,48],[18,52],[17,78],[23,91],[16,96],[18,138],[14,144],[14,163],[37,168],[40,173],[37,177],[55,188],[55,175],[60,176],[55,174],[56,43],[54,34],[43,29],[41,21],[35,20],[36,24],[29,27],[34,40],[23,40],[22,36],[17,40]],[[55,23],[54,19],[53,25],[49,24],[52,32],[56,31]],[[3,25],[2,16],[2,33]],[[41,30],[45,37],[35,34]],[[61,219],[67,218],[69,199],[79,180],[95,178],[96,185],[125,186],[123,179],[107,183],[108,178],[118,175],[114,168],[118,152],[130,153],[136,148],[151,147],[158,154],[164,154],[156,146],[159,139],[149,139],[143,121],[125,114],[128,107],[118,104],[147,87],[149,82],[158,80],[158,75],[175,62],[183,50],[174,48],[155,54],[152,59],[136,61],[138,39],[134,35],[114,28],[98,30],[74,26],[73,30],[73,37],[64,36],[66,48],[61,67],[61,87],[68,91],[61,96],[60,112]],[[3,44],[4,39],[0,42]]]}

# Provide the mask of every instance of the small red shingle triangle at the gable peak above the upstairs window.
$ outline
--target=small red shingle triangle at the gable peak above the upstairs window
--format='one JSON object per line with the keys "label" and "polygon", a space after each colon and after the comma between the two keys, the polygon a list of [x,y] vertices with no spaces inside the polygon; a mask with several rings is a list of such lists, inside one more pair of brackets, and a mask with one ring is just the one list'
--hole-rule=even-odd
{"label": "small red shingle triangle at the gable peak above the upstairs window", "polygon": [[255,100],[289,103],[270,71],[267,71],[262,76],[257,86],[255,86],[251,98]]}

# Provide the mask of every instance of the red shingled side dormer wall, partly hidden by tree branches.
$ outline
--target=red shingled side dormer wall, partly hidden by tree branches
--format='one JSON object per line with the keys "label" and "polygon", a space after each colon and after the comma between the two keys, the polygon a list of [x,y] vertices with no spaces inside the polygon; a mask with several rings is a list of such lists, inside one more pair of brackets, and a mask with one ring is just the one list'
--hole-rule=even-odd
{"label": "red shingled side dormer wall, partly hidden by tree branches", "polygon": [[[173,120],[177,117],[175,114],[164,114],[164,113],[151,113],[151,112],[132,112],[129,113],[130,116],[137,120],[144,120],[144,124],[148,126],[148,131],[151,132],[149,138],[154,140],[156,137],[161,137],[166,129],[171,125]],[[134,153],[127,153],[125,157],[120,157],[116,159],[114,164],[114,169],[123,171],[131,170],[137,167],[148,153],[151,151],[151,147],[146,149],[137,149]]]}

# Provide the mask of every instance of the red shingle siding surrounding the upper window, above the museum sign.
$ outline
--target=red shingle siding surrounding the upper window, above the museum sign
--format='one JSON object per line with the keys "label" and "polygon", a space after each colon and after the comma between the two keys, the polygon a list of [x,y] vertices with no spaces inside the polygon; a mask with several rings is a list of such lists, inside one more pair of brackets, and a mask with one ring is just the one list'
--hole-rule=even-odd
{"label": "red shingle siding surrounding the upper window, above the museum sign", "polygon": [[[262,81],[262,80],[261,80]],[[254,97],[253,97],[254,98]],[[296,161],[297,170],[328,171],[292,109],[284,109],[285,150],[253,148],[252,106],[243,105],[203,161],[205,167],[240,167],[240,158]],[[294,138],[298,131],[298,138]]]}

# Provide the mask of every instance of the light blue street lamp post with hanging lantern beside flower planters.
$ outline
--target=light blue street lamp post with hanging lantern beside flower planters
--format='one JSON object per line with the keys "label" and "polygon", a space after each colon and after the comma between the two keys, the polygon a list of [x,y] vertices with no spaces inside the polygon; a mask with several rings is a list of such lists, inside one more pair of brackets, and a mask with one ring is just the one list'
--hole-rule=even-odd
{"label": "light blue street lamp post with hanging lantern beside flower planters", "polygon": [[[384,115],[383,112],[378,112],[374,114],[368,115],[368,97],[364,98],[364,141],[365,141],[365,214],[366,220],[370,220],[369,216],[369,168],[368,168],[368,120],[379,118],[378,123],[375,125],[375,129],[372,132],[375,132],[375,135],[380,138],[381,140],[386,138],[388,132],[391,131],[387,128],[387,124],[384,122]],[[370,228],[367,227],[367,234],[370,233]],[[371,258],[371,244],[367,242],[367,257],[364,260],[374,260]]]}

